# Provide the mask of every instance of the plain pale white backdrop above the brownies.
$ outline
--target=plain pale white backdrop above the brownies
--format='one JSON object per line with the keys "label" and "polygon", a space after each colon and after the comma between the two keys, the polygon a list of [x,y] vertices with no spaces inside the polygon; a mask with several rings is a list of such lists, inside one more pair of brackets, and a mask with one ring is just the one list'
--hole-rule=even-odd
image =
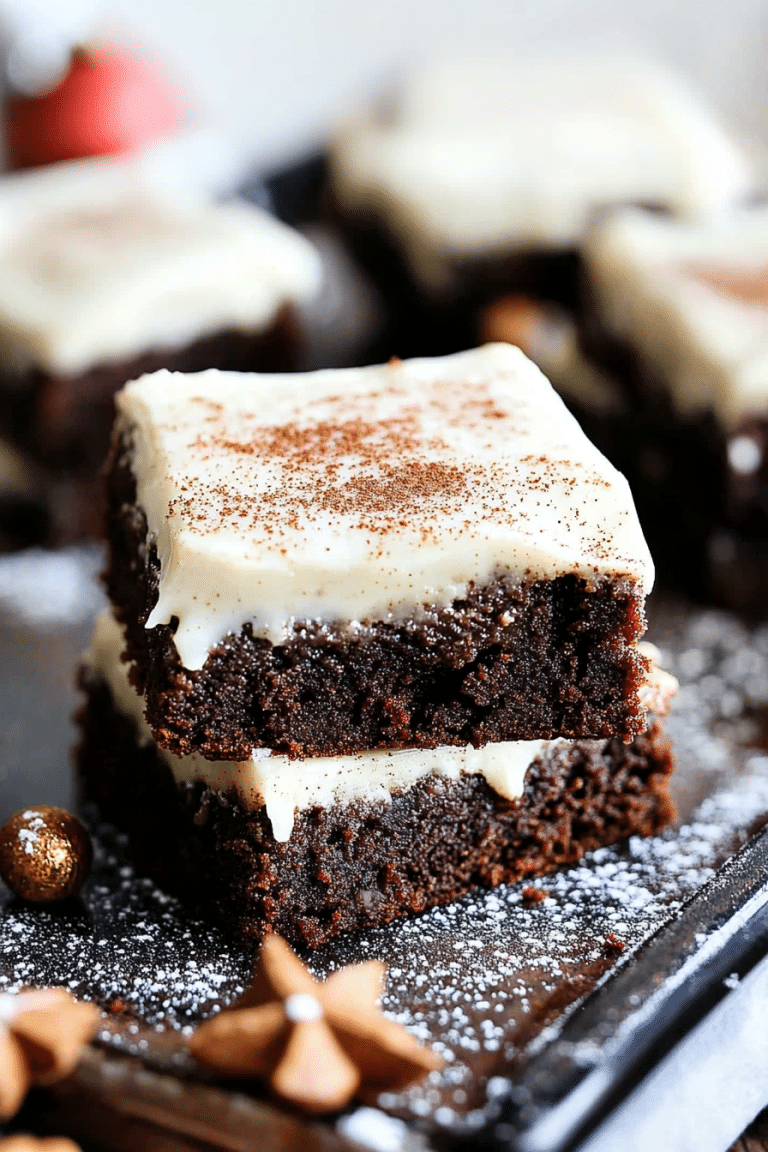
{"label": "plain pale white backdrop above the brownies", "polygon": [[768,154],[768,0],[111,0],[107,15],[265,166],[311,150],[408,62],[549,44],[683,69]]}

